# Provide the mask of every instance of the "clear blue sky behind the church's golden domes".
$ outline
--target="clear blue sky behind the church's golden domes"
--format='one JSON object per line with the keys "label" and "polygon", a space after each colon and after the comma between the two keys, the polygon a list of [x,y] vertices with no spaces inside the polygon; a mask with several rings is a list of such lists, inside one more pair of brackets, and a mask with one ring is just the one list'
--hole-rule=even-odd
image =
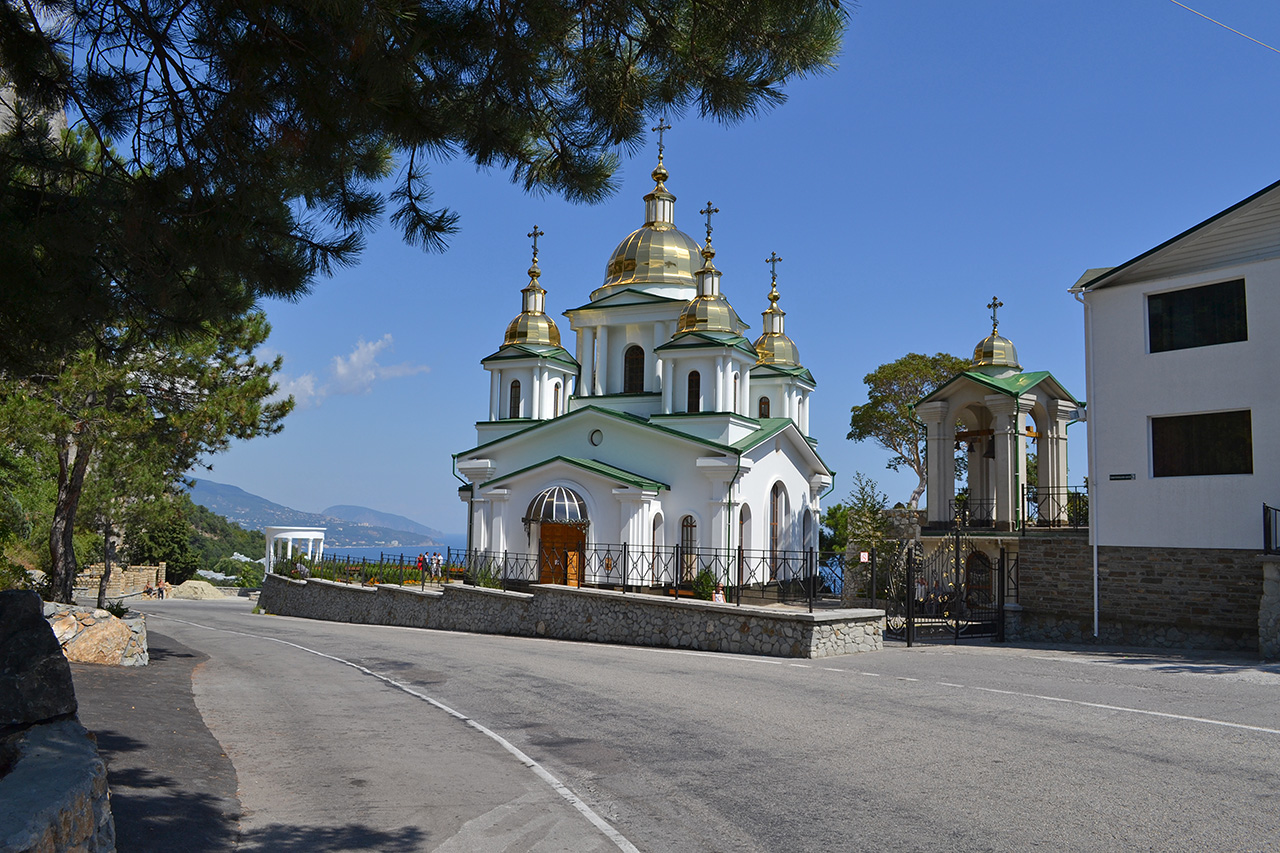
{"label": "clear blue sky behind the church's golden domes", "polygon": [[[1187,5],[1280,47],[1280,3]],[[1087,268],[1125,261],[1280,178],[1280,53],[1171,0],[863,0],[838,68],[732,127],[672,117],[676,222],[716,218],[722,287],[750,337],[776,251],[786,329],[818,379],[810,432],[837,471],[892,501],[914,475],[845,439],[863,377],[906,352],[968,356],[1001,333],[1023,368],[1084,397],[1083,318],[1066,293]],[[234,446],[197,476],[300,510],[356,503],[465,530],[451,453],[488,415],[493,352],[520,310],[536,223],[548,313],[586,302],[614,245],[643,223],[653,145],[623,152],[600,205],[529,196],[463,161],[433,170],[461,214],[448,252],[394,228],[361,263],[293,304],[265,305],[269,347],[298,409],[279,435]],[[1070,480],[1085,475],[1071,428]]]}

